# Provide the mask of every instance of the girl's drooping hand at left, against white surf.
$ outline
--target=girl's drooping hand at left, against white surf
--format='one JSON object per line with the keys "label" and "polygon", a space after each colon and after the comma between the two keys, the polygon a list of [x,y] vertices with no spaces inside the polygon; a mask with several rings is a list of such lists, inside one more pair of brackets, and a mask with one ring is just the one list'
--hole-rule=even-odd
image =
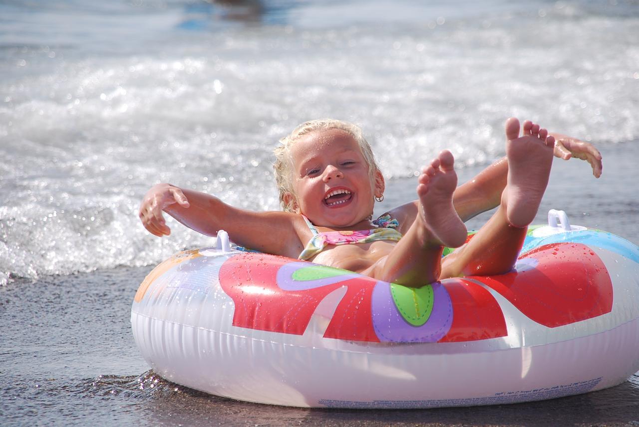
{"label": "girl's drooping hand at left, against white surf", "polygon": [[151,187],[144,194],[140,205],[139,217],[144,228],[158,237],[170,235],[171,229],[167,227],[162,211],[176,203],[183,208],[190,206],[186,196],[178,187],[171,184],[158,184]]}

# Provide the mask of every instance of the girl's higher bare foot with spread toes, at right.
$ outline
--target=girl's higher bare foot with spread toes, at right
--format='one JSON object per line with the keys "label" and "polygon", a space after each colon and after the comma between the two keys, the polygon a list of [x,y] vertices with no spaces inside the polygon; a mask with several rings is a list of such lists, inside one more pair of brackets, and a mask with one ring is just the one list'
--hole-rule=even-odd
{"label": "girl's higher bare foot with spread toes, at right", "polygon": [[528,120],[523,124],[521,137],[519,120],[511,117],[505,127],[508,180],[502,205],[505,203],[506,218],[511,226],[523,228],[535,219],[546,191],[555,138]]}

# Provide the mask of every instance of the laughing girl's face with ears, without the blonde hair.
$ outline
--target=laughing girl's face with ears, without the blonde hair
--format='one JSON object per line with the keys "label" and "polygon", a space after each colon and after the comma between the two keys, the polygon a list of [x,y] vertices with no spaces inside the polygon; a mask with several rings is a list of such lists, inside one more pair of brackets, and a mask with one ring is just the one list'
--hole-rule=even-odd
{"label": "laughing girl's face with ears, without the blonde hair", "polygon": [[291,146],[296,212],[316,226],[349,227],[373,214],[374,196],[381,196],[384,179],[369,164],[357,141],[342,129],[306,134]]}

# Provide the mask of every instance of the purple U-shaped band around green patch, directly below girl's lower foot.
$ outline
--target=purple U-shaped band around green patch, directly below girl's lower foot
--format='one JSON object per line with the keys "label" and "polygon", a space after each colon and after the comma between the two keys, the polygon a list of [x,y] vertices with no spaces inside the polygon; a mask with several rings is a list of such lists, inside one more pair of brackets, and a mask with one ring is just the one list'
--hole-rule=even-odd
{"label": "purple U-shaped band around green patch, directly below girl's lower foot", "polygon": [[371,312],[373,327],[382,342],[437,342],[452,324],[450,295],[440,282],[433,286],[433,311],[422,326],[406,322],[397,310],[388,282],[377,282],[373,290]]}

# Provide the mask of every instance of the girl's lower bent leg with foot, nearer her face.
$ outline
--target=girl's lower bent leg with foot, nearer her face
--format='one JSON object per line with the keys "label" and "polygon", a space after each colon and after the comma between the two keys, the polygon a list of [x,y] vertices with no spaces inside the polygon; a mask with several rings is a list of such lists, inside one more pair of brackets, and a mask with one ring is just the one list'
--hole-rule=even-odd
{"label": "girl's lower bent leg with foot, nearer her face", "polygon": [[466,240],[466,227],[452,204],[453,166],[452,154],[443,151],[424,168],[417,185],[419,215],[392,252],[364,274],[415,287],[439,278],[443,246],[458,247]]}

